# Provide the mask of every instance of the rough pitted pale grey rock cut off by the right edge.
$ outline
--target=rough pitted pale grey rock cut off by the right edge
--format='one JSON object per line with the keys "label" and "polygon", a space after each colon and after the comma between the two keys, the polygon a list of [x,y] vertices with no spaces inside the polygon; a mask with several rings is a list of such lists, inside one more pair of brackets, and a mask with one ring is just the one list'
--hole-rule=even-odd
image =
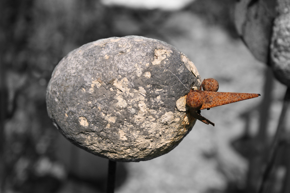
{"label": "rough pitted pale grey rock cut off by the right edge", "polygon": [[277,11],[270,47],[271,67],[275,77],[290,87],[290,1],[278,0]]}

